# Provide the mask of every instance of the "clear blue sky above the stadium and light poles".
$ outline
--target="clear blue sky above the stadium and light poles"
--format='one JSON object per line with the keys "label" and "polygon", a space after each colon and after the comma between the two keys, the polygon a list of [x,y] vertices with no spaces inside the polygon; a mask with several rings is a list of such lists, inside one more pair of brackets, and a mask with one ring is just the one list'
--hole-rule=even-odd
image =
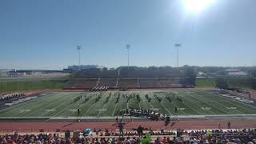
{"label": "clear blue sky above the stadium and light poles", "polygon": [[200,13],[182,0],[1,0],[0,69],[81,63],[117,67],[255,66],[256,1],[215,0]]}

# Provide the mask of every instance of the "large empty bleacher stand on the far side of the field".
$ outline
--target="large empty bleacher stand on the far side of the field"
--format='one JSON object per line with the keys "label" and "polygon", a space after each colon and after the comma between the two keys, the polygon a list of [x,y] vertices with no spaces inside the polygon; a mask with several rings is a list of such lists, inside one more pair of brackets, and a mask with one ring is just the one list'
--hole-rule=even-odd
{"label": "large empty bleacher stand on the far side of the field", "polygon": [[84,70],[76,72],[64,89],[90,90],[95,86],[107,86],[110,89],[147,89],[191,87],[190,81],[182,72],[173,69],[117,69]]}

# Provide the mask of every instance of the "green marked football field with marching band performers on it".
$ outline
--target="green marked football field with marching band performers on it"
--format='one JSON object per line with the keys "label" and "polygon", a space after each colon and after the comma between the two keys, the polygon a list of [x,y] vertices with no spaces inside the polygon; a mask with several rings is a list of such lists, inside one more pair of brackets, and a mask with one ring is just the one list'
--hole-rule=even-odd
{"label": "green marked football field with marching band performers on it", "polygon": [[[170,92],[182,98],[182,102],[178,102],[177,99],[169,102],[166,99],[166,95],[170,95]],[[115,103],[118,93],[120,93],[121,96],[119,102]],[[74,98],[78,97],[80,94],[82,94],[82,99],[74,102]],[[102,98],[100,98],[98,102],[95,102],[95,99],[98,98],[98,94],[102,94]],[[122,94],[139,94],[141,102],[137,102],[135,97],[131,98],[130,102],[127,103],[126,99],[122,97]],[[146,100],[146,94],[152,98],[151,102]],[[158,102],[154,94],[162,98],[162,102]],[[89,98],[87,102],[85,102],[84,95]],[[106,102],[109,96],[110,99]],[[203,90],[158,90],[102,93],[51,93],[1,110],[0,117],[77,117],[78,108],[81,109],[81,117],[114,117],[118,109],[122,110],[127,107],[143,110],[154,109],[167,115],[173,115],[175,107],[178,107],[178,115],[256,114],[254,103],[249,105]]]}

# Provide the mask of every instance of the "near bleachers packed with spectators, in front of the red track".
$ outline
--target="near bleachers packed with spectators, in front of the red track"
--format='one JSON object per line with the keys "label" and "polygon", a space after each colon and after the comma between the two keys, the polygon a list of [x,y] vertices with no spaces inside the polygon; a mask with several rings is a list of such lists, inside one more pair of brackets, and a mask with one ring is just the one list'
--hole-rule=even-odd
{"label": "near bleachers packed with spectators, in front of the red track", "polygon": [[[72,132],[73,133],[73,132]],[[180,135],[178,134],[180,133]],[[256,130],[144,130],[142,138],[137,130],[126,131],[120,137],[116,131],[93,130],[89,134],[1,134],[1,143],[247,143],[256,142]]]}

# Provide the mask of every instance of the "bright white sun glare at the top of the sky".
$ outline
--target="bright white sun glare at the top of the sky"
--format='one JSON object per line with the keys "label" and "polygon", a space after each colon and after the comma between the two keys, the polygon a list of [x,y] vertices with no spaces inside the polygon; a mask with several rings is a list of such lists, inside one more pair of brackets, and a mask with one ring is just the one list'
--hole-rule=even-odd
{"label": "bright white sun glare at the top of the sky", "polygon": [[215,0],[182,0],[185,10],[189,13],[200,13],[210,6]]}

